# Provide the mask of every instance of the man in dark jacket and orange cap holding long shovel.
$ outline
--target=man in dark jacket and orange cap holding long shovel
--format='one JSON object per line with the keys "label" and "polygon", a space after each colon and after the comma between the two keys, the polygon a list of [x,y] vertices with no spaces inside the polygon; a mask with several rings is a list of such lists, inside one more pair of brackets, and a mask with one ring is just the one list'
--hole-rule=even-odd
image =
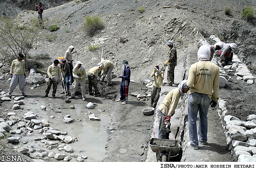
{"label": "man in dark jacket and orange cap holding long shovel", "polygon": [[65,93],[65,86],[66,86],[66,95],[70,95],[70,66],[67,63],[67,60],[65,58],[61,59],[61,73],[63,76],[62,79],[62,88],[63,91],[61,92],[61,94]]}

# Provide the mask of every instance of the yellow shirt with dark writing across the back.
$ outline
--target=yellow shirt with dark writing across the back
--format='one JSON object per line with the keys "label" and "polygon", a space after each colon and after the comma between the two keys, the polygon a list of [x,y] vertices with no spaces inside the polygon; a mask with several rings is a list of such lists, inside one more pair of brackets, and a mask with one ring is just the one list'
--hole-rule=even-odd
{"label": "yellow shirt with dark writing across the back", "polygon": [[[192,64],[186,85],[190,87],[190,94],[194,92],[203,93],[218,101],[219,67],[209,61],[199,61]],[[214,92],[213,97],[212,90]]]}

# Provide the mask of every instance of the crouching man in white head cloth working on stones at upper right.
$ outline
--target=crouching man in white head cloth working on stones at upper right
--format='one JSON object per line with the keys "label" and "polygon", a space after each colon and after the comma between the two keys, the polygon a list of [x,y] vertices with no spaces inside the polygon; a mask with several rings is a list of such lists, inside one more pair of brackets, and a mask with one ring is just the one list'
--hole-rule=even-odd
{"label": "crouching man in white head cloth working on stones at upper right", "polygon": [[237,44],[223,44],[223,48],[215,55],[220,57],[219,65],[226,66],[232,64],[233,51],[237,48]]}

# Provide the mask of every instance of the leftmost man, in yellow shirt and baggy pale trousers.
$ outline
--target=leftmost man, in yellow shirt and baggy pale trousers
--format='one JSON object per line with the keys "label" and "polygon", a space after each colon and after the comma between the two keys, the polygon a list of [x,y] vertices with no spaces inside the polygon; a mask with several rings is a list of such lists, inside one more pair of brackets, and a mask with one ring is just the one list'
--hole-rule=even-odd
{"label": "leftmost man, in yellow shirt and baggy pale trousers", "polygon": [[16,88],[17,84],[19,84],[19,89],[23,96],[27,97],[25,94],[25,84],[26,84],[26,71],[25,71],[25,61],[23,61],[24,55],[19,53],[18,59],[13,60],[11,64],[11,83],[9,88],[9,95],[11,95]]}

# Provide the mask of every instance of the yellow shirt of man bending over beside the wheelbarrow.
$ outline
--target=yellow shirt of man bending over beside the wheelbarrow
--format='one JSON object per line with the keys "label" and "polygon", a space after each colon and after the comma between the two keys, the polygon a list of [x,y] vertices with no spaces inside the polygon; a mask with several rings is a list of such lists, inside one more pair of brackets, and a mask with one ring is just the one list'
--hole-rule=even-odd
{"label": "yellow shirt of man bending over beside the wheelbarrow", "polygon": [[163,99],[162,104],[160,104],[160,106],[158,107],[159,110],[162,111],[162,113],[166,116],[172,116],[172,113],[175,111],[178,105],[180,97],[180,89],[172,89]]}

